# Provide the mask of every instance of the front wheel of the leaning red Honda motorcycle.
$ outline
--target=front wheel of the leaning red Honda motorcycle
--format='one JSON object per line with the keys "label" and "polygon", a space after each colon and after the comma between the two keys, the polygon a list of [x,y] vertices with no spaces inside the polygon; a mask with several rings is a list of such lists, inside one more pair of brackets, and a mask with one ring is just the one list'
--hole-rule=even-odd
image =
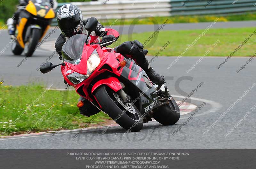
{"label": "front wheel of the leaning red Honda motorcycle", "polygon": [[132,103],[125,103],[112,89],[105,85],[95,91],[95,97],[103,111],[117,124],[129,132],[140,131],[143,127],[143,117]]}

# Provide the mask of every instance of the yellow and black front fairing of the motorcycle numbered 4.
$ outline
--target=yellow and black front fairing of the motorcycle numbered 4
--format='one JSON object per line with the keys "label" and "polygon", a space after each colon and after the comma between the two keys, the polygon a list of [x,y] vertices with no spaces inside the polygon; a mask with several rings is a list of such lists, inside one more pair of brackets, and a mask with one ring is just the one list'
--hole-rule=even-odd
{"label": "yellow and black front fairing of the motorcycle numbered 4", "polygon": [[19,24],[17,25],[17,40],[20,46],[22,48],[25,47],[24,36],[26,32],[24,30],[28,25],[34,24],[40,26],[42,29],[42,39],[48,31],[53,18],[55,18],[55,12],[49,5],[38,4],[36,0],[30,0],[25,11],[20,13]]}

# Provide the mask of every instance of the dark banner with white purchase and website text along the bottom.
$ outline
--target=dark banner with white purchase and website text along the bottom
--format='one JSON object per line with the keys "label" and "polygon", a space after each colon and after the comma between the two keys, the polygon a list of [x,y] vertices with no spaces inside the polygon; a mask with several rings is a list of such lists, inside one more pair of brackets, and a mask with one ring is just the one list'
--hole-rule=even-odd
{"label": "dark banner with white purchase and website text along the bottom", "polygon": [[255,168],[256,150],[1,150],[0,168]]}

